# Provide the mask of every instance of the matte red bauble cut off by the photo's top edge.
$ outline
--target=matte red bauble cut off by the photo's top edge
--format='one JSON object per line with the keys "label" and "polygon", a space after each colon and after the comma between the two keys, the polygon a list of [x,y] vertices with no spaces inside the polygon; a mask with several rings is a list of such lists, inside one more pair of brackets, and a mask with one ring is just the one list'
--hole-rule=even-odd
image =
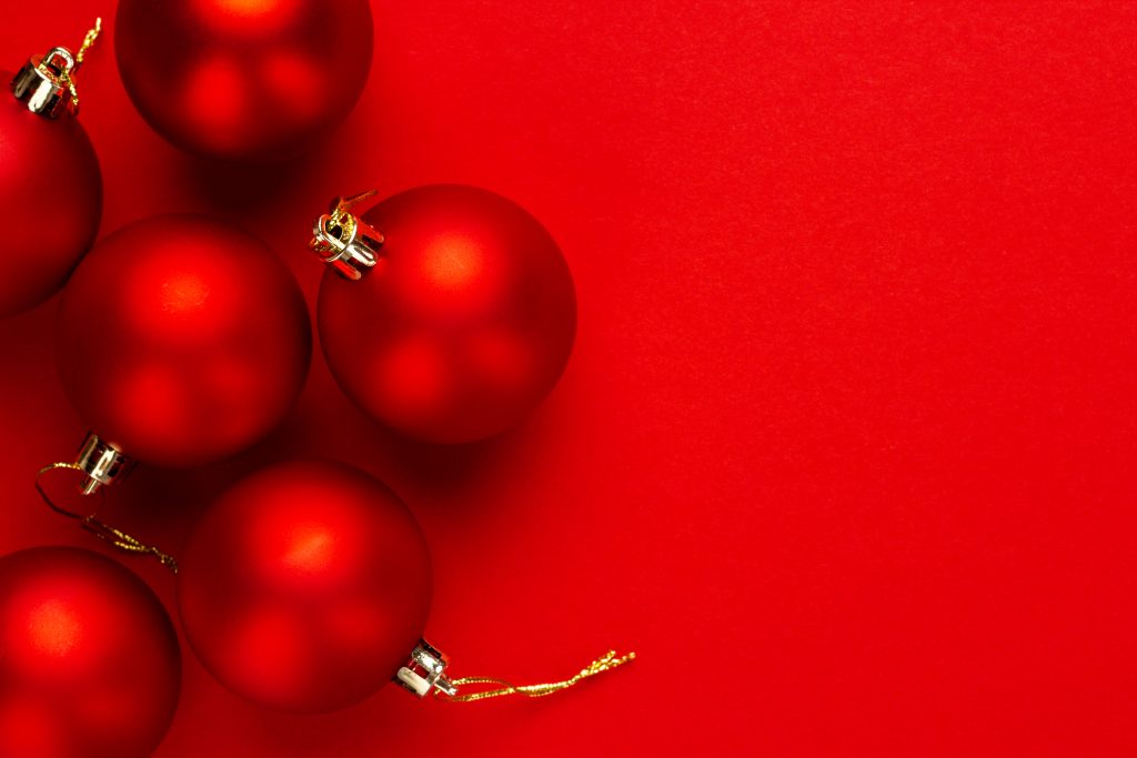
{"label": "matte red bauble cut off by the photo's top edge", "polygon": [[367,0],[121,0],[115,50],[127,94],[169,142],[272,163],[351,113],[372,34]]}

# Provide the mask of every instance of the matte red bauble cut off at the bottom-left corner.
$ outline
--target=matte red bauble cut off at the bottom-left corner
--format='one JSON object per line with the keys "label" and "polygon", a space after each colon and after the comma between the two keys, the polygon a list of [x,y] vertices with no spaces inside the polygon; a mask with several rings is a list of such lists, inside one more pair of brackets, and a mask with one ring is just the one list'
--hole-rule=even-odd
{"label": "matte red bauble cut off at the bottom-left corner", "polygon": [[146,758],[181,680],[169,616],[119,564],[78,548],[0,558],[0,756]]}

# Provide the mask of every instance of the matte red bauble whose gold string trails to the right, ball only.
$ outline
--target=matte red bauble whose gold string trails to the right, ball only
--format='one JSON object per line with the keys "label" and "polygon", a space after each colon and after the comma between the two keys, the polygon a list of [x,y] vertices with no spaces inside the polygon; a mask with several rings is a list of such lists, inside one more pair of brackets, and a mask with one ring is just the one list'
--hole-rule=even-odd
{"label": "matte red bauble whose gold string trails to the right, ball only", "polygon": [[417,523],[343,464],[277,464],[236,483],[194,530],[181,567],[190,647],[230,690],[280,710],[367,698],[408,659],[430,611]]}

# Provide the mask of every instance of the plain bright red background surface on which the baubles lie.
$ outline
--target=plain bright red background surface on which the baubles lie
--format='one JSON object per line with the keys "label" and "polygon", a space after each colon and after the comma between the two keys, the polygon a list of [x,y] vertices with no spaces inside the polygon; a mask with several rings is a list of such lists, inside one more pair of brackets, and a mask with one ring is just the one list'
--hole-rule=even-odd
{"label": "plain bright red background surface on which the baubles lie", "polygon": [[[114,15],[5,5],[7,68]],[[373,5],[359,107],[265,172],[167,147],[105,40],[81,82],[103,233],[239,219],[314,302],[329,198],[479,184],[572,266],[563,382],[515,433],[434,449],[360,417],[317,358],[265,444],[140,469],[106,515],[176,552],[241,473],[332,455],[422,519],[456,674],[640,659],[541,701],[392,686],[294,717],[186,651],[160,758],[1137,753],[1137,6]],[[32,489],[84,432],[55,309],[0,322],[2,551],[91,543]]]}

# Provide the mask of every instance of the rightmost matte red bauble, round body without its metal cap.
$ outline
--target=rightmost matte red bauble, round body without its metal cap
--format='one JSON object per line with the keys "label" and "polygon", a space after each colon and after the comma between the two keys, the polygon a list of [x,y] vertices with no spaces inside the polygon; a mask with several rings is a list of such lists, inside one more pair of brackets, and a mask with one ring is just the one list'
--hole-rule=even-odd
{"label": "rightmost matte red bauble, round body without its metal cap", "polygon": [[576,295],[561,250],[514,202],[424,186],[364,215],[385,236],[360,281],[329,269],[317,324],[340,388],[428,442],[516,425],[564,372]]}

